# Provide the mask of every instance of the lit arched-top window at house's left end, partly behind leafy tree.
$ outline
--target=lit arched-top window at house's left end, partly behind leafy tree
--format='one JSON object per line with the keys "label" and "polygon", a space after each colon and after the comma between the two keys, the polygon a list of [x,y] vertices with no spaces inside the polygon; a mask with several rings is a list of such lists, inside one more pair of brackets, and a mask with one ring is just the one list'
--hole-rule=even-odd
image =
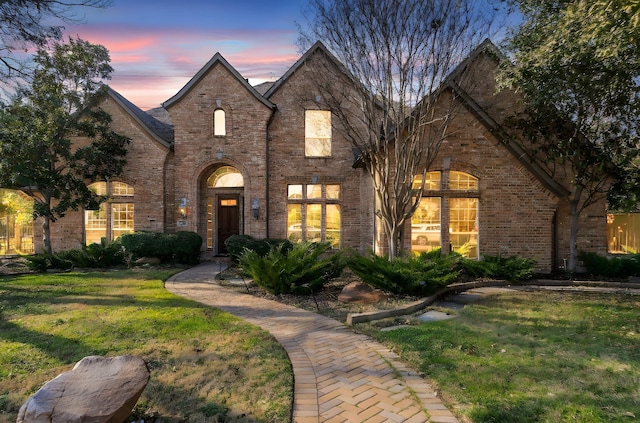
{"label": "lit arched-top window at house's left end, partly behind leafy tree", "polygon": [[85,210],[85,244],[114,240],[134,230],[133,187],[124,182],[96,182],[89,189],[107,196],[97,210]]}

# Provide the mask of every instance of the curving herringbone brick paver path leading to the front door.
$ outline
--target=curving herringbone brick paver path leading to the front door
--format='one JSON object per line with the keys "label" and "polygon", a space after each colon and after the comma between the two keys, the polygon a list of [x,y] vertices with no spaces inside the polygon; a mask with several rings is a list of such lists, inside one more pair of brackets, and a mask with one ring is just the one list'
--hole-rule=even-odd
{"label": "curving herringbone brick paver path leading to the front door", "polygon": [[218,263],[204,263],[165,286],[269,331],[291,360],[293,421],[458,422],[434,389],[371,338],[338,321],[221,287]]}

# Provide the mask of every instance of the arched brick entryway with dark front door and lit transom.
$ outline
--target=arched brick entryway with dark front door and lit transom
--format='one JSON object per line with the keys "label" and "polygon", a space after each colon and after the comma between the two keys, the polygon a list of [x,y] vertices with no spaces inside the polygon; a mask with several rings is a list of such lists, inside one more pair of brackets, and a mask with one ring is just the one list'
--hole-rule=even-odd
{"label": "arched brick entryway with dark front door and lit transom", "polygon": [[211,168],[205,176],[200,199],[205,216],[200,221],[206,227],[201,233],[206,234],[207,250],[223,254],[227,251],[224,242],[242,232],[244,178],[238,169],[226,164]]}

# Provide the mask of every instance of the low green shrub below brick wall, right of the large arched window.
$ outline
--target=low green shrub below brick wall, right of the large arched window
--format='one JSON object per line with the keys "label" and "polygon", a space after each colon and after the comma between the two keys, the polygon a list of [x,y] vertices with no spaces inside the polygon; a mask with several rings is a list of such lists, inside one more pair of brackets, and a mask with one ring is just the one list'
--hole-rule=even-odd
{"label": "low green shrub below brick wall, right of the large arched window", "polygon": [[536,261],[522,257],[484,256],[482,260],[464,260],[464,273],[473,278],[526,281],[533,277]]}

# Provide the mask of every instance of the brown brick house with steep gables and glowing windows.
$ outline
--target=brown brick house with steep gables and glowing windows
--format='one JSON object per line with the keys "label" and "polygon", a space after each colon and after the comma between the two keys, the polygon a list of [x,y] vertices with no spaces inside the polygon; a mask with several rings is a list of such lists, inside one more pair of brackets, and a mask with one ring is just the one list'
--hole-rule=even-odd
{"label": "brown brick house with steep gables and glowing windows", "polygon": [[[481,45],[442,91],[460,107],[406,225],[405,247],[520,255],[551,272],[568,258],[566,189],[505,135],[500,122],[518,98],[496,94],[494,50]],[[383,251],[370,177],[354,166],[352,146],[314,88],[317,60],[339,67],[318,43],[277,82],[253,87],[216,54],[148,112],[111,91],[104,108],[132,140],[128,164],[117,181],[95,184],[110,195],[100,210],[69,212],[52,225],[54,250],[131,230],[188,230],[202,236],[205,258],[223,253],[236,233]],[[473,88],[456,84],[462,74]],[[606,253],[606,231],[603,202],[583,213],[578,248]]]}

